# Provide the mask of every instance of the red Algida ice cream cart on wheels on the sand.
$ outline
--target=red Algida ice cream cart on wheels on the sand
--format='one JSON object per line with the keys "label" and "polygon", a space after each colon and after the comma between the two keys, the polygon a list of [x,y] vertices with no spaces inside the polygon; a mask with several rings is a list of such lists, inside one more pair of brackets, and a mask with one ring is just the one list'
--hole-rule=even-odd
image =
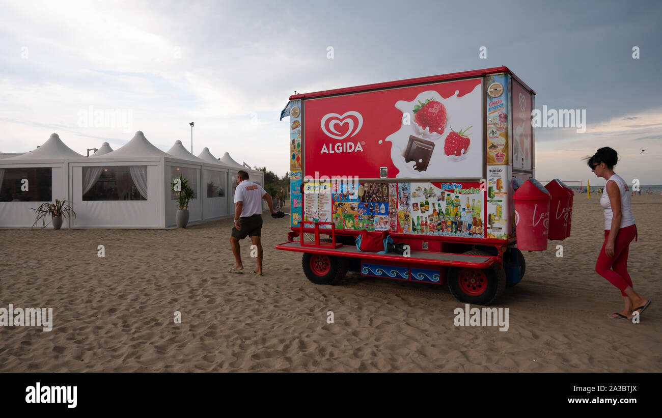
{"label": "red Algida ice cream cart on wheels on the sand", "polygon": [[[524,276],[516,228],[540,235],[549,222],[534,95],[495,67],[291,96],[291,232],[276,248],[303,253],[316,284],[357,271],[447,282],[461,302],[493,304]],[[361,230],[408,247],[361,252]]]}

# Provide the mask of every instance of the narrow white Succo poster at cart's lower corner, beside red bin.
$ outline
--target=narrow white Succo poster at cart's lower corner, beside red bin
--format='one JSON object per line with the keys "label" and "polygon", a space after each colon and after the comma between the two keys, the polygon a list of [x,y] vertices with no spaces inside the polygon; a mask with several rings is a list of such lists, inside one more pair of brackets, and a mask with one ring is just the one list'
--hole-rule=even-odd
{"label": "narrow white Succo poster at cart's lower corner, beside red bin", "polygon": [[510,166],[487,168],[487,237],[507,239],[512,212]]}

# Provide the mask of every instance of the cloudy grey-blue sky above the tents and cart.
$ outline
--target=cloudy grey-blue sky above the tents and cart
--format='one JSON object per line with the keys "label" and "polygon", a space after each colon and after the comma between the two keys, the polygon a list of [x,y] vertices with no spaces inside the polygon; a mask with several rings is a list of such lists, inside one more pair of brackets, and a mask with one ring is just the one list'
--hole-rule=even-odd
{"label": "cloudy grey-blue sky above the tents and cart", "polygon": [[[136,130],[161,149],[289,168],[279,114],[307,92],[510,67],[536,108],[585,109],[587,129],[536,129],[536,177],[594,179],[614,147],[627,181],[662,184],[658,1],[0,1],[0,151],[52,132],[85,154]],[[334,58],[327,58],[327,47]],[[487,59],[479,48],[487,48]],[[639,59],[633,59],[633,48]],[[118,112],[119,126],[87,118]],[[92,122],[91,124],[89,122]],[[641,153],[641,149],[645,149]]]}

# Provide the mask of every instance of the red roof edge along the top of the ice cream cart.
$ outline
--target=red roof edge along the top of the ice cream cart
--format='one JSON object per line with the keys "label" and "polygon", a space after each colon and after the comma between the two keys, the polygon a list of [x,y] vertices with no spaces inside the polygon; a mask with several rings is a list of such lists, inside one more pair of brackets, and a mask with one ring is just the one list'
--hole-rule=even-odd
{"label": "red roof edge along the top of the ice cream cart", "polygon": [[299,93],[297,95],[291,95],[290,100],[293,99],[312,99],[313,97],[324,97],[324,96],[335,96],[343,95],[348,93],[357,93],[358,91],[369,91],[369,90],[381,90],[389,89],[391,87],[400,87],[404,85],[416,85],[416,84],[426,84],[434,83],[435,81],[446,81],[452,79],[462,79],[469,77],[481,77],[486,74],[496,74],[496,73],[509,73],[514,79],[520,82],[525,89],[530,91],[532,94],[536,94],[524,81],[520,80],[508,67],[493,67],[485,69],[475,69],[473,71],[463,71],[461,73],[450,73],[442,75],[430,75],[430,77],[418,77],[413,79],[399,80],[399,81],[388,81],[387,83],[374,83],[359,85],[355,87],[346,87],[344,89],[333,89],[333,90],[324,90],[324,91],[314,91],[312,93]]}

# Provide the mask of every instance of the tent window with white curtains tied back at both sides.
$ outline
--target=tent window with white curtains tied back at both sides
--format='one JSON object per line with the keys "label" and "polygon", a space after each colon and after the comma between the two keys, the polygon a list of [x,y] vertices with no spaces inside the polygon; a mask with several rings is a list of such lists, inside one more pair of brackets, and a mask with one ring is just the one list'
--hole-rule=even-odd
{"label": "tent window with white curtains tied back at both sides", "polygon": [[147,200],[146,165],[83,167],[83,201]]}

